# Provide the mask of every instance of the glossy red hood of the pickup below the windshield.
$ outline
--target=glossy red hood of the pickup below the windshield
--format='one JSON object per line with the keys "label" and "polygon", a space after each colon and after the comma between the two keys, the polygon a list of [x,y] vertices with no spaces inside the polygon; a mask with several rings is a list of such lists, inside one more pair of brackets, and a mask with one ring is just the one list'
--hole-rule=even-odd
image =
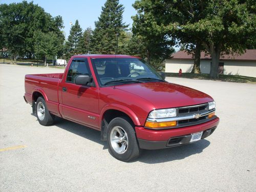
{"label": "glossy red hood of the pickup below the windshield", "polygon": [[124,84],[115,89],[137,95],[151,102],[156,109],[196,105],[213,100],[201,91],[168,82]]}

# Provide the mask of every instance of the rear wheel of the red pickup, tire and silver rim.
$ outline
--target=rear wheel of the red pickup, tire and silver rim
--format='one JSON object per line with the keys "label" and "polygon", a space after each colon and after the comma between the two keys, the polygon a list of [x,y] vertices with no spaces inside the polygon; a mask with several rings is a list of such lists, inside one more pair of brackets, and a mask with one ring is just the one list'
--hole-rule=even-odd
{"label": "rear wheel of the red pickup, tire and silver rim", "polygon": [[52,115],[47,108],[46,101],[42,97],[38,97],[35,105],[35,112],[38,122],[41,125],[51,125],[54,122],[54,115]]}

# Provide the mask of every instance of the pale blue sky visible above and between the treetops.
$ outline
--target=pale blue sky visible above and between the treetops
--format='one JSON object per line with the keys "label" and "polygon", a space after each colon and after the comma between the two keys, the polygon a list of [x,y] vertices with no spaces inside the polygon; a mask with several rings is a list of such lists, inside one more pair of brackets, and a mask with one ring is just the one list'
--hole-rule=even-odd
{"label": "pale blue sky visible above and between the treetops", "polygon": [[[47,13],[50,13],[53,17],[60,15],[63,19],[63,25],[65,28],[63,31],[66,34],[66,38],[70,32],[70,22],[75,24],[76,19],[83,30],[91,27],[94,29],[94,22],[98,20],[101,13],[101,7],[104,6],[106,0],[34,0],[34,4],[38,4],[44,8]],[[0,0],[0,4],[20,3],[22,0]],[[27,2],[31,2],[27,0]],[[123,22],[126,25],[129,24],[129,28],[132,27],[133,20],[132,15],[136,14],[136,10],[132,7],[135,0],[119,0],[119,3],[124,6]]]}

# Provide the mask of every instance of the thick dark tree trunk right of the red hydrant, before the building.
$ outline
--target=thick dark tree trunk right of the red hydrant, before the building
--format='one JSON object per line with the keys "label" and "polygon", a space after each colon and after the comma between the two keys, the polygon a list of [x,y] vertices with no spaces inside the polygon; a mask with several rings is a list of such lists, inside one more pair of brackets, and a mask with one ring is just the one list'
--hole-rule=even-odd
{"label": "thick dark tree trunk right of the red hydrant, before the building", "polygon": [[219,78],[220,49],[218,47],[211,46],[210,56],[210,77],[216,79]]}

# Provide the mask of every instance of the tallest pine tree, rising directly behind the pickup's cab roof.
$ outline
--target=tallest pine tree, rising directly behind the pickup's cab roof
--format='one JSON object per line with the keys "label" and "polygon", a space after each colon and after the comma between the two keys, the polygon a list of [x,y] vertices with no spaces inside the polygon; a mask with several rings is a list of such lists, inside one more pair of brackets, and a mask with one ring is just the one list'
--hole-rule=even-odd
{"label": "tallest pine tree, rising directly behind the pickup's cab roof", "polygon": [[127,25],[122,22],[124,7],[119,0],[106,0],[92,38],[92,52],[97,54],[118,54],[117,42],[122,41],[122,35]]}

